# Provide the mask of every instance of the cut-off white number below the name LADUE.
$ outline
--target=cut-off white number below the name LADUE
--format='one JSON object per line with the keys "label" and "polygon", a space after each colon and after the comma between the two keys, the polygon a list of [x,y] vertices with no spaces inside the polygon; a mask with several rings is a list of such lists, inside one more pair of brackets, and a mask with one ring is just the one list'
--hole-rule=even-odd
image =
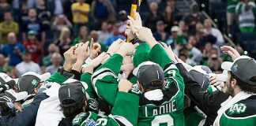
{"label": "cut-off white number below the name LADUE", "polygon": [[174,125],[173,118],[170,115],[159,115],[151,121],[152,126],[161,126],[162,124],[168,126]]}

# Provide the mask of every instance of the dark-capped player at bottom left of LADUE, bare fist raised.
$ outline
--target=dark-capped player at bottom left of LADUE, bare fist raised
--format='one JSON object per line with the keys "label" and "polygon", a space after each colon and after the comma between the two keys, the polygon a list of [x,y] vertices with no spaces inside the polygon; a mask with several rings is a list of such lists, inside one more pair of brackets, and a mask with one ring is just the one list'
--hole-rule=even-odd
{"label": "dark-capped player at bottom left of LADUE, bare fist raised", "polygon": [[[69,125],[69,118],[73,119],[73,126],[131,126],[137,124],[137,106],[139,98],[137,95],[127,93],[130,91],[131,87],[132,83],[128,80],[120,80],[119,91],[115,99],[114,107],[111,109],[112,115],[109,117],[100,117],[97,113],[85,111],[85,108],[90,105],[86,104],[87,98],[83,84],[73,79],[66,80],[58,90],[59,100],[66,121],[61,121],[58,125]],[[130,111],[126,111],[127,109]]]}

